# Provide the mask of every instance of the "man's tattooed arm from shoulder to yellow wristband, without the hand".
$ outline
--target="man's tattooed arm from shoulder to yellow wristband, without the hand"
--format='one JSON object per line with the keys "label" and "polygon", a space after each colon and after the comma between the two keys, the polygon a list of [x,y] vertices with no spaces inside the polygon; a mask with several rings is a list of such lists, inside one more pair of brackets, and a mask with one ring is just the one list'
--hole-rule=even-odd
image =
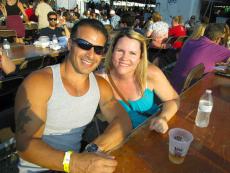
{"label": "man's tattooed arm from shoulder to yellow wristband, without the hand", "polygon": [[16,146],[23,159],[63,171],[64,152],[42,141],[47,101],[52,90],[50,81],[46,71],[35,72],[19,87],[15,102]]}

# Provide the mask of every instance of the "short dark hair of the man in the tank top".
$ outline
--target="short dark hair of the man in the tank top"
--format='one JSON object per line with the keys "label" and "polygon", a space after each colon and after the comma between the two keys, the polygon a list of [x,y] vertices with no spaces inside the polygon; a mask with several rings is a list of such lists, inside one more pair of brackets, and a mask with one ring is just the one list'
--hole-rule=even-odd
{"label": "short dark hair of the man in the tank top", "polygon": [[78,22],[76,22],[73,28],[71,29],[70,38],[75,38],[77,30],[82,26],[89,26],[94,28],[95,30],[100,31],[105,36],[106,43],[107,43],[108,32],[105,29],[104,25],[99,20],[96,19],[81,19]]}

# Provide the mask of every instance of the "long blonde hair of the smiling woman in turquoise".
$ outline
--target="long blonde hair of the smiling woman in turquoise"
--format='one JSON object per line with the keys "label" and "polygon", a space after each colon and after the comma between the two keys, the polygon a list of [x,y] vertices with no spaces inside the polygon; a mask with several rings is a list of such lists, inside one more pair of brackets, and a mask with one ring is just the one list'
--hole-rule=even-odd
{"label": "long blonde hair of the smiling woman in turquoise", "polygon": [[135,80],[137,81],[138,87],[140,87],[141,92],[143,94],[146,84],[147,84],[147,68],[148,68],[148,59],[147,59],[147,47],[146,47],[146,39],[143,35],[140,33],[134,31],[133,29],[123,29],[121,30],[113,39],[109,50],[106,54],[105,58],[105,69],[107,72],[112,70],[113,67],[113,62],[112,62],[112,57],[113,57],[113,51],[114,48],[119,41],[119,39],[123,37],[128,37],[131,39],[135,39],[139,41],[141,44],[141,57],[140,57],[140,62],[137,65],[137,68],[134,72]]}

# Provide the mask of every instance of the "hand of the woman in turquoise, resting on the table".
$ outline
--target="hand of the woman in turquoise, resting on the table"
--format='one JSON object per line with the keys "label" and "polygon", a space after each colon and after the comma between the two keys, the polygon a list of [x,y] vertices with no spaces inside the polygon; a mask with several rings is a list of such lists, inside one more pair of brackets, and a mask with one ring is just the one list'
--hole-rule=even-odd
{"label": "hand of the woman in turquoise, resting on the table", "polygon": [[167,121],[158,116],[158,117],[154,117],[151,122],[150,122],[150,130],[155,130],[158,133],[166,133],[168,131],[168,123]]}

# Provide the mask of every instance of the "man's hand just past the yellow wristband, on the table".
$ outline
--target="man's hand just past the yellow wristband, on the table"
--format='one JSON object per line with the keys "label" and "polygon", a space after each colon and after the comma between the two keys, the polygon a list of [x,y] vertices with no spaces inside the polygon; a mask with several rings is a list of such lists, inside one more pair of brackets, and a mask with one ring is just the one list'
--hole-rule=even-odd
{"label": "man's hand just past the yellow wristband, on the table", "polygon": [[117,161],[104,153],[73,153],[70,161],[71,173],[112,173]]}

